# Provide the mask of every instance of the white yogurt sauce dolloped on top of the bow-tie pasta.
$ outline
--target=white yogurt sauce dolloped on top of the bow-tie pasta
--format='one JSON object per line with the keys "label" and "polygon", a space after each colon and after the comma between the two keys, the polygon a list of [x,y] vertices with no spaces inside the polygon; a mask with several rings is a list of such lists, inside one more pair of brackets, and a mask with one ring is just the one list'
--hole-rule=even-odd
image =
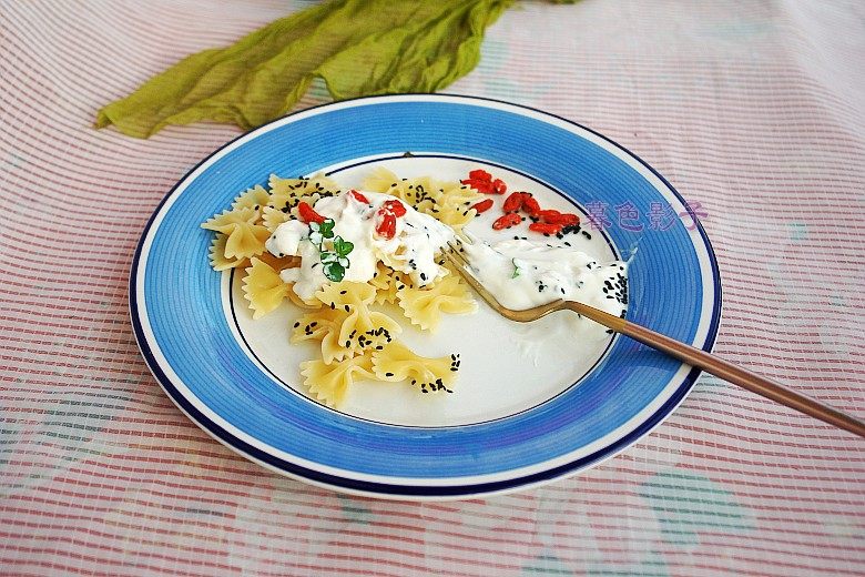
{"label": "white yogurt sauce dolloped on top of the bow-tie pasta", "polygon": [[[454,239],[454,231],[432,216],[417,212],[389,194],[363,191],[369,203],[350,193],[320,199],[315,211],[334,221],[334,235],[354,244],[348,254],[345,281],[367,282],[376,273],[378,261],[395,271],[406,273],[415,286],[427,284],[448,274],[436,262],[436,254]],[[385,239],[376,233],[378,211],[386,201],[398,201],[406,214],[396,219],[396,233]],[[282,223],[265,243],[276,256],[301,256],[301,266],[281,273],[283,281],[294,283],[294,292],[303,300],[313,298],[328,281],[322,271],[318,247],[309,241],[309,226],[292,220]]]}

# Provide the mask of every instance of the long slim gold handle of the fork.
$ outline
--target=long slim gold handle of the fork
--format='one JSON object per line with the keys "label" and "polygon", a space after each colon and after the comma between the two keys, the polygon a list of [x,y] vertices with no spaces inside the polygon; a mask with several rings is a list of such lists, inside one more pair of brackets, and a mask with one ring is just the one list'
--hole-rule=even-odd
{"label": "long slim gold handle of the fork", "polygon": [[752,393],[771,398],[776,403],[781,403],[782,405],[786,405],[801,413],[811,415],[812,417],[849,431],[851,433],[855,433],[861,437],[865,437],[865,423],[862,421],[828,405],[824,405],[823,403],[780,383],[770,381],[769,378],[729,363],[705,351],[686,345],[680,341],[662,335],[661,333],[655,333],[654,331],[625,321],[624,318],[604,313],[592,306],[572,301],[568,301],[566,306],[608,328],[612,328],[617,333],[630,336],[634,341],[639,341],[647,346],[666,353],[683,363],[696,368],[702,368],[706,373],[711,373],[734,385],[746,388]]}

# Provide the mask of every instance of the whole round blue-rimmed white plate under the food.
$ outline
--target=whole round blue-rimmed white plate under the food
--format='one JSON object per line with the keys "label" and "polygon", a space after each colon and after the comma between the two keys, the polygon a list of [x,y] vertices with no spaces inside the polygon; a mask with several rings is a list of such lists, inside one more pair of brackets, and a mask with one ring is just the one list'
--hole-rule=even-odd
{"label": "whole round blue-rimmed white plate under the food", "polygon": [[[586,227],[591,239],[576,242],[601,259],[640,243],[628,317],[711,348],[720,316],[711,246],[649,165],[532,109],[448,95],[359,99],[286,117],[226,144],[177,183],[144,231],[130,291],[136,338],[160,384],[202,428],[317,485],[393,498],[474,497],[598,463],[682,401],[698,376],[685,365],[627,338],[587,342],[556,317],[509,323],[484,305],[475,315],[449,316],[432,336],[404,323],[400,338],[420,354],[460,354],[454,394],[360,383],[339,411],[308,398],[297,365],[315,351],[288,344],[299,312],[286,304],[253,321],[238,280],[210,267],[211,233],[199,225],[271,173],[323,171],[358,186],[377,165],[439,180],[485,168],[545,206],[581,211],[584,222],[606,207],[610,225]],[[629,204],[641,217],[615,222],[617,207]],[[484,222],[472,226],[487,230]]]}

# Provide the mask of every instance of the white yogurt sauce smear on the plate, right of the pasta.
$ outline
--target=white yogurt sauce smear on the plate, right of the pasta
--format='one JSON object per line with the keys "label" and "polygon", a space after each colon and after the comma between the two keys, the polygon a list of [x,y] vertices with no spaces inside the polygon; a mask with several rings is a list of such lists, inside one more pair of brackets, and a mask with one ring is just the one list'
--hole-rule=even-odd
{"label": "white yogurt sauce smear on the plate, right of the pasta", "polygon": [[598,263],[570,246],[521,239],[493,244],[475,240],[464,246],[475,275],[508,308],[531,308],[558,298],[579,301],[615,316],[628,307],[628,264],[623,261]]}

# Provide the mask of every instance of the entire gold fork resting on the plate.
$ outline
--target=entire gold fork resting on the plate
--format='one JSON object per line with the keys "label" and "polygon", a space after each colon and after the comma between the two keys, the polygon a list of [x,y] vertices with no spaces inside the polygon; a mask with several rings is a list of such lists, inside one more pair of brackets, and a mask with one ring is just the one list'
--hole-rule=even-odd
{"label": "entire gold fork resting on the plate", "polygon": [[729,363],[718,356],[701,351],[700,348],[686,345],[674,338],[655,333],[642,325],[631,323],[624,318],[613,316],[609,313],[604,313],[593,306],[578,303],[576,301],[558,300],[548,304],[536,306],[533,308],[526,308],[523,311],[515,311],[501,306],[492,294],[487,291],[482,284],[471,273],[471,263],[466,259],[458,246],[448,244],[449,250],[442,251],[445,257],[450,261],[457,272],[462,275],[466,282],[471,285],[475,291],[480,295],[484,301],[487,302],[496,312],[498,312],[505,318],[517,321],[518,323],[529,323],[537,321],[548,314],[557,311],[573,311],[581,314],[587,318],[591,318],[596,323],[599,323],[607,328],[610,328],[617,333],[621,333],[625,336],[633,338],[647,346],[666,353],[668,355],[682,361],[693,367],[701,368],[706,373],[711,373],[724,381],[739,385],[743,388],[763,395],[766,398],[771,398],[776,403],[786,405],[791,408],[800,411],[806,415],[818,418],[836,427],[855,433],[861,437],[865,437],[865,423],[858,421],[846,413],[825,405],[818,401],[815,401],[802,393],[793,391],[780,383],[770,381],[762,377],[751,371],[746,371],[740,366]]}

